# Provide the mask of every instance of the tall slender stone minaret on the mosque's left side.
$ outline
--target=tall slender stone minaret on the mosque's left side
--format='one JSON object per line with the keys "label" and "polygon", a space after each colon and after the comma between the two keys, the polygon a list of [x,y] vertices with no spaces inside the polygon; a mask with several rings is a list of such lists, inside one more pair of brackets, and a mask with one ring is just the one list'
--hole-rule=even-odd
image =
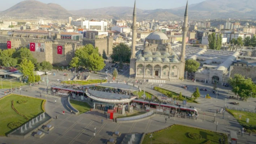
{"label": "tall slender stone minaret on the mosque's left side", "polygon": [[133,8],[133,22],[132,22],[132,54],[130,60],[130,77],[136,77],[136,58],[135,58],[135,45],[137,38],[137,26],[136,26],[136,0]]}

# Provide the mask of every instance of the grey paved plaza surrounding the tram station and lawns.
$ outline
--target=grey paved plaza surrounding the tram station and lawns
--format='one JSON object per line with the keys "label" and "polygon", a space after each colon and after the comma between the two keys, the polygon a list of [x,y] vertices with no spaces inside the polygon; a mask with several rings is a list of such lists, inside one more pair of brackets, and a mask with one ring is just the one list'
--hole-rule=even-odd
{"label": "grey paved plaza surrounding the tram station and lawns", "polygon": [[[119,76],[118,80],[125,80],[129,83],[134,83],[135,79],[129,79],[127,77],[127,71],[124,71],[123,75]],[[60,85],[60,83],[57,81],[58,79],[67,80],[67,77],[63,75],[63,72],[56,73],[56,75],[49,75],[49,87],[50,85]],[[99,74],[92,74],[90,76],[90,79],[104,79],[106,74],[99,73]],[[188,85],[188,90],[185,90],[181,88],[181,86],[185,84]],[[158,86],[158,84],[153,83],[154,86]],[[197,101],[200,104],[188,104],[188,106],[195,106],[196,109],[199,112],[199,117],[197,120],[186,120],[186,119],[180,119],[180,118],[174,118],[170,117],[170,119],[167,120],[167,123],[165,123],[165,116],[157,114],[155,117],[152,117],[150,119],[147,119],[145,121],[141,122],[135,122],[135,123],[114,123],[110,120],[106,119],[106,115],[102,113],[101,111],[94,110],[92,112],[83,113],[81,115],[74,115],[71,114],[66,108],[65,108],[65,100],[66,98],[60,98],[56,96],[42,96],[43,99],[47,99],[46,102],[46,112],[53,117],[54,119],[50,122],[54,126],[54,129],[50,131],[49,134],[47,134],[47,131],[40,129],[40,131],[43,131],[45,133],[45,136],[43,138],[38,139],[34,136],[30,136],[27,139],[14,139],[14,138],[6,138],[6,137],[0,137],[0,144],[106,144],[107,141],[112,138],[112,134],[115,131],[121,132],[123,135],[119,139],[117,139],[117,144],[121,143],[121,140],[123,139],[123,136],[125,133],[133,133],[133,132],[153,132],[156,130],[163,129],[167,126],[173,125],[173,124],[181,124],[181,125],[187,125],[187,126],[193,126],[193,127],[199,127],[204,129],[209,129],[212,131],[216,130],[216,122],[218,121],[218,132],[226,133],[226,130],[234,130],[238,131],[241,126],[236,121],[234,117],[232,117],[229,113],[225,113],[224,117],[222,114],[216,114],[215,117],[215,123],[213,122],[214,119],[214,112],[216,109],[222,108],[225,104],[225,98],[227,96],[232,95],[230,90],[228,90],[226,87],[219,86],[219,93],[217,102],[216,102],[216,96],[212,95],[212,85],[205,85],[204,83],[192,83],[188,81],[183,82],[167,82],[162,85],[162,88],[171,90],[174,92],[179,93],[180,91],[183,93],[183,95],[191,96],[191,94],[194,91],[193,87],[204,87],[208,91],[200,91],[201,97],[197,99]],[[140,85],[140,88],[142,90],[145,90],[147,92],[150,92],[156,96],[161,96],[162,94],[152,90],[152,83],[144,83]],[[28,92],[25,91],[25,89],[28,89]],[[42,85],[35,85],[31,87],[24,86],[23,90],[15,91],[14,93],[31,97],[40,97],[40,93],[45,91],[46,86],[44,86],[44,83]],[[212,99],[204,99],[203,96],[205,94],[209,93]],[[4,90],[0,91],[0,97],[4,96]],[[162,95],[163,96],[163,95]],[[55,100],[57,100],[55,104]],[[227,102],[232,102],[234,100],[227,99]],[[256,106],[255,99],[251,100],[250,106],[248,102],[239,101],[239,106],[235,106],[237,108],[246,108],[254,110]],[[226,104],[227,106],[233,106],[230,104]],[[62,114],[62,111],[65,110],[65,115]],[[56,119],[55,116],[58,115],[58,118]],[[229,118],[229,121],[227,119]],[[101,119],[103,119],[103,124],[101,123]],[[96,127],[96,137],[93,138],[94,133],[94,127]],[[238,135],[238,143],[240,144],[256,144],[256,136],[252,135],[249,136],[248,134],[245,134],[243,137],[241,135]]]}

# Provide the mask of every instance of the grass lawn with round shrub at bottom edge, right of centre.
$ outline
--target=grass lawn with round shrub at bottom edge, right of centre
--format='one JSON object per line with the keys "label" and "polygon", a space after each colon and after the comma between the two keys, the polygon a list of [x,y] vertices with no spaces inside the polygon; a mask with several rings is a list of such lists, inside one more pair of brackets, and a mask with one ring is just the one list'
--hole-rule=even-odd
{"label": "grass lawn with round shrub at bottom edge, right of centre", "polygon": [[[202,136],[201,139],[191,139],[188,133],[196,133]],[[150,134],[146,134],[142,144],[150,144]],[[219,138],[225,138],[222,133],[217,133],[199,128],[172,125],[164,130],[152,133],[152,144],[203,144],[211,140],[211,144],[219,144]],[[227,137],[226,137],[227,144]],[[223,142],[222,142],[223,143]]]}

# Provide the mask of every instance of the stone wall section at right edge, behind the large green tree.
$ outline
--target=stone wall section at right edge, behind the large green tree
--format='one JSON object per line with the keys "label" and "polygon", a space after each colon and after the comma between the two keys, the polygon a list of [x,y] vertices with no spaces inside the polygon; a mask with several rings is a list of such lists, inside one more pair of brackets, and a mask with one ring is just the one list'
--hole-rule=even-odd
{"label": "stone wall section at right edge, behind the large green tree", "polygon": [[256,81],[256,66],[234,64],[230,66],[230,77],[234,78],[235,74],[243,75],[246,78],[251,78],[253,82]]}

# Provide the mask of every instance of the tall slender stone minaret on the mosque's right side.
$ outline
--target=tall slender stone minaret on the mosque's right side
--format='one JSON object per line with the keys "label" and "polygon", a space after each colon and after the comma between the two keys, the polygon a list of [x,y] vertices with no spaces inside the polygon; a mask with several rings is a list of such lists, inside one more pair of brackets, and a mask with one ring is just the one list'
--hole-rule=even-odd
{"label": "tall slender stone minaret on the mosque's right side", "polygon": [[182,50],[180,54],[180,62],[182,63],[182,68],[180,70],[180,77],[184,78],[184,71],[185,71],[185,49],[186,49],[186,38],[188,32],[188,1],[187,6],[184,14],[184,24],[182,27]]}

